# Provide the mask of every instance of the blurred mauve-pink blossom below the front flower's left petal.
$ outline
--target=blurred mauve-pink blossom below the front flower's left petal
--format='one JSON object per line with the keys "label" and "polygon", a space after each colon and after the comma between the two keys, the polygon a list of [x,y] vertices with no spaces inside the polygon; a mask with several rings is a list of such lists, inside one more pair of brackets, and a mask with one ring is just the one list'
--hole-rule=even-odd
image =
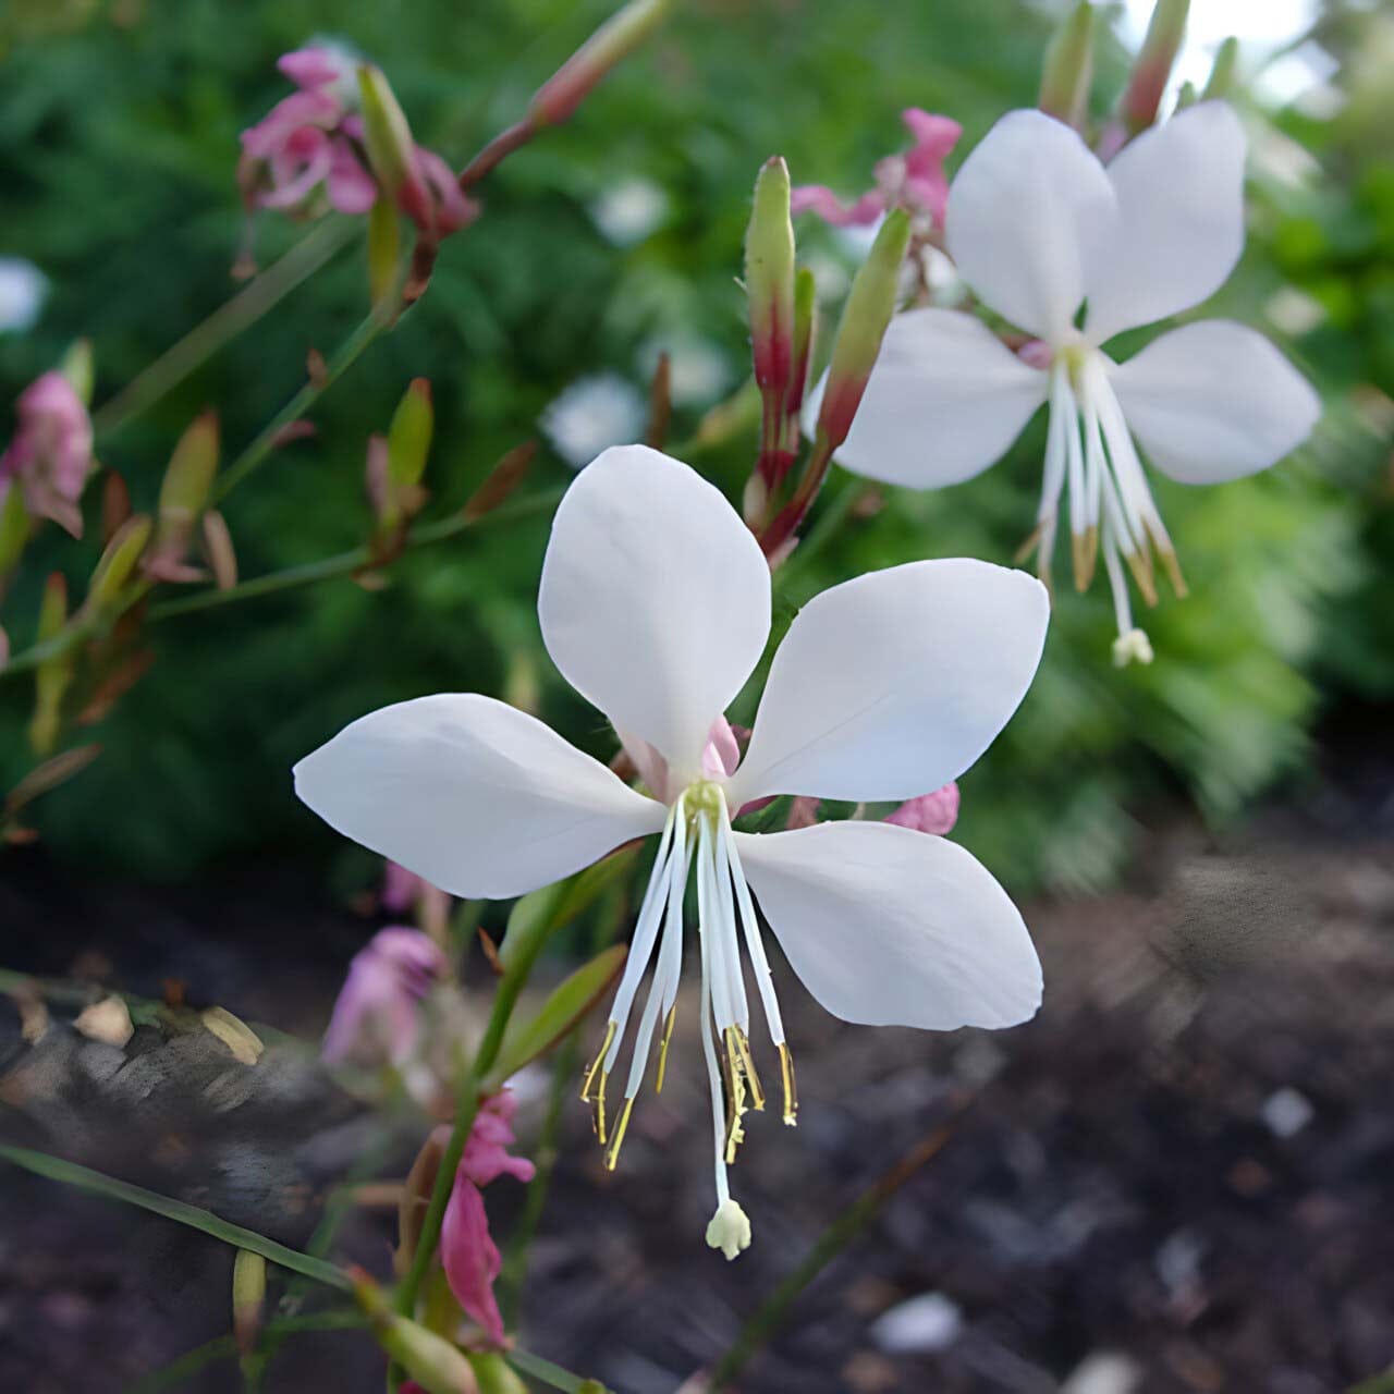
{"label": "blurred mauve-pink blossom below the front flower's left petal", "polygon": [[445,966],[439,947],[420,930],[379,930],[348,965],[325,1033],[325,1059],[362,1065],[406,1059],[417,1041],[420,1004]]}

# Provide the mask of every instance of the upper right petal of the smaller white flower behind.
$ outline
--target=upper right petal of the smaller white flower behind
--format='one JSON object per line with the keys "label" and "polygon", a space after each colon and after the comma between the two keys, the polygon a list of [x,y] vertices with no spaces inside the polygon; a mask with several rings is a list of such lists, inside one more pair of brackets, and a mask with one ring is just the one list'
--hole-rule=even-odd
{"label": "upper right petal of the smaller white flower behind", "polygon": [[1103,343],[1213,296],[1243,251],[1239,118],[1202,102],[1144,131],[1108,166],[1114,238],[1087,268],[1086,333]]}

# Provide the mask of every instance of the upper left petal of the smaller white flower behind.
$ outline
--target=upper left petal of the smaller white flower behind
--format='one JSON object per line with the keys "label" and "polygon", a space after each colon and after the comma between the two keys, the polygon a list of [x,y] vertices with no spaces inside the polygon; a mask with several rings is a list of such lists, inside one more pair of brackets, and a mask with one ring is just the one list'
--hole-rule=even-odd
{"label": "upper left petal of the smaller white flower behind", "polygon": [[944,231],[986,304],[1059,343],[1114,217],[1112,185],[1079,135],[1041,112],[1009,112],[958,171]]}

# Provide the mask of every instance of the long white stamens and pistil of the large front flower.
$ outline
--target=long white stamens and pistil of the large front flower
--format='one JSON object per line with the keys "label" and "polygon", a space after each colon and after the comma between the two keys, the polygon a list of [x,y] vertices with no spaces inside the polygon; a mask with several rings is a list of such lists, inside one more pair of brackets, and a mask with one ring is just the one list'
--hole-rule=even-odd
{"label": "long white stamens and pistil of the large front flower", "polygon": [[[769,1037],[779,1052],[783,1086],[783,1121],[796,1122],[793,1058],[785,1043],[779,1004],[775,999],[769,960],[765,956],[756,919],[754,901],[740,866],[740,853],[730,829],[730,813],[722,785],[712,779],[693,781],[668,810],[654,859],[654,870],[638,912],[634,940],[625,976],[611,1008],[605,1041],[581,1085],[581,1098],[594,1108],[595,1136],[605,1147],[605,1165],[619,1161],[620,1144],[629,1126],[634,1098],[648,1068],[659,1016],[664,1032],[658,1048],[654,1092],[661,1093],[668,1064],[668,1044],[677,1016],[677,986],[682,973],[683,899],[690,874],[697,881],[697,924],[701,945],[701,991],[698,1027],[711,1085],[712,1160],[717,1178],[718,1214],[728,1221],[740,1207],[730,1200],[726,1167],[736,1160],[744,1140],[744,1115],[764,1111],[765,1092],[750,1050],[750,1005],[742,966],[742,940],[764,1009]],[[654,963],[648,998],[638,1019],[625,1101],[615,1126],[606,1117],[606,1087],[625,1043],[626,1027],[650,962]],[[725,1210],[722,1209],[725,1207]],[[742,1216],[743,1218],[743,1216]],[[729,1248],[730,1225],[717,1227]],[[747,1225],[749,1243],[749,1225]],[[744,1243],[737,1245],[737,1250]],[[732,1255],[733,1256],[733,1255]]]}

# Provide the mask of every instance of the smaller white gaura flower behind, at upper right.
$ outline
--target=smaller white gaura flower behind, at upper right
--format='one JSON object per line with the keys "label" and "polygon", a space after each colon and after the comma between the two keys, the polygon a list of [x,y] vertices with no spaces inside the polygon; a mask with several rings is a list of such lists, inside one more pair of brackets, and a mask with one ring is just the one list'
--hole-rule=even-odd
{"label": "smaller white gaura flower behind, at upper right", "polygon": [[1151,657],[1119,558],[1149,604],[1153,551],[1185,591],[1138,446],[1182,484],[1218,484],[1274,464],[1320,415],[1282,354],[1231,321],[1174,329],[1122,364],[1101,347],[1224,283],[1243,250],[1243,158],[1223,102],[1139,135],[1107,169],[1040,112],[1002,117],[949,188],[945,237],[983,304],[1039,343],[1019,357],[973,315],[899,315],[838,452],[846,468],[888,484],[958,484],[1048,403],[1039,570],[1048,579],[1068,484],[1075,581],[1089,584],[1101,542],[1119,662]]}

